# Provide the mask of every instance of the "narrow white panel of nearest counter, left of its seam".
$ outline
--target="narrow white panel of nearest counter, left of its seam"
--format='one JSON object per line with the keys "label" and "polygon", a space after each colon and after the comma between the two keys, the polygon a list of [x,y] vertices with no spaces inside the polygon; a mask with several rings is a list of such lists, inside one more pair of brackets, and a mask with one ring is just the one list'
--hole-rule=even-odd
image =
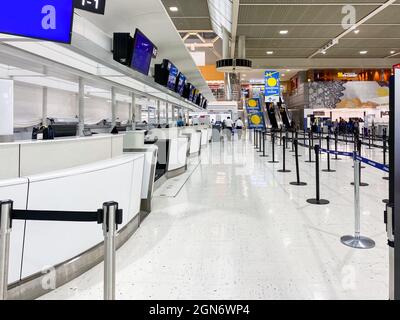
{"label": "narrow white panel of nearest counter, left of its seam", "polygon": [[[0,199],[13,200],[15,209],[26,209],[27,193],[27,179],[13,179],[0,182]],[[20,280],[24,226],[25,221],[20,220],[14,220],[12,224],[10,235],[9,283]]]}

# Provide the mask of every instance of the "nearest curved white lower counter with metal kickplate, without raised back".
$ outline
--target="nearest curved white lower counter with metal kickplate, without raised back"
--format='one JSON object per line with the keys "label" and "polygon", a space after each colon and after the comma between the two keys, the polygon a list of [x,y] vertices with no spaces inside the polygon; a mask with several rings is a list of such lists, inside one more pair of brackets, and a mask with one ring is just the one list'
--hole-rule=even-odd
{"label": "nearest curved white lower counter with metal kickplate, without raised back", "polygon": [[[117,246],[139,226],[144,156],[123,155],[89,165],[0,181],[0,199],[15,209],[96,211],[116,201],[123,210]],[[28,192],[29,190],[29,192]],[[14,221],[11,232],[10,299],[44,293],[44,268],[56,271],[57,286],[103,259],[103,231],[97,223]]]}

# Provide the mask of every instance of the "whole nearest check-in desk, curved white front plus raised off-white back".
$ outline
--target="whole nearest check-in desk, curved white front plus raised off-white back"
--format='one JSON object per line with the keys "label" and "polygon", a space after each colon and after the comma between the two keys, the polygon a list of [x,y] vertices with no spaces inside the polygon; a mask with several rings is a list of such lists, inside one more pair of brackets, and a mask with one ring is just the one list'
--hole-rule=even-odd
{"label": "whole nearest check-in desk, curved white front plus raised off-white back", "polygon": [[[0,200],[15,209],[96,211],[116,201],[123,210],[117,247],[139,227],[145,155],[122,155],[123,135],[4,143],[0,152],[7,154],[0,167],[12,169],[1,172]],[[9,299],[48,292],[45,267],[55,268],[57,287],[89,270],[103,260],[102,241],[96,223],[13,221]]]}

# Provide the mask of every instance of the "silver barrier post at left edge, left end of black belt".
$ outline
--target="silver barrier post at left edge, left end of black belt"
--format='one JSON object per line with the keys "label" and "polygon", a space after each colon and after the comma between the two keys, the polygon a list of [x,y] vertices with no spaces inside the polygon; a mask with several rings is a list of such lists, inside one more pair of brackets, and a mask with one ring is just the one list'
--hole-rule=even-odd
{"label": "silver barrier post at left edge, left end of black belt", "polygon": [[0,201],[0,300],[7,300],[12,201]]}

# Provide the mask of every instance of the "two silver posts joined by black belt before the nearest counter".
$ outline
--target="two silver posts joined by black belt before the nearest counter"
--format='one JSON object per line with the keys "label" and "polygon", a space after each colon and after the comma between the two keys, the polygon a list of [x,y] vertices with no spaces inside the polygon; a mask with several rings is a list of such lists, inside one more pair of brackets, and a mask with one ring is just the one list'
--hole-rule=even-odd
{"label": "two silver posts joined by black belt before the nearest counter", "polygon": [[115,300],[115,252],[118,225],[123,211],[114,201],[103,203],[97,211],[16,210],[12,200],[0,201],[0,300],[7,299],[10,234],[13,220],[96,222],[104,235],[104,300]]}

